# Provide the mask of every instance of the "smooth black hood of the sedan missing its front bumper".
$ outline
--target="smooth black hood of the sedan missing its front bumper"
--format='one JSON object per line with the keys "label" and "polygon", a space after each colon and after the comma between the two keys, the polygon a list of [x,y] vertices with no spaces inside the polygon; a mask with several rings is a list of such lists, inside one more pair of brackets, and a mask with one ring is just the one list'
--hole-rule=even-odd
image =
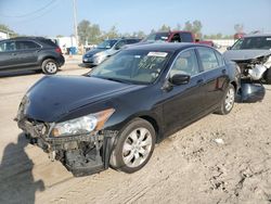
{"label": "smooth black hood of the sedan missing its front bumper", "polygon": [[28,90],[25,115],[51,123],[73,110],[140,87],[94,77],[46,76]]}

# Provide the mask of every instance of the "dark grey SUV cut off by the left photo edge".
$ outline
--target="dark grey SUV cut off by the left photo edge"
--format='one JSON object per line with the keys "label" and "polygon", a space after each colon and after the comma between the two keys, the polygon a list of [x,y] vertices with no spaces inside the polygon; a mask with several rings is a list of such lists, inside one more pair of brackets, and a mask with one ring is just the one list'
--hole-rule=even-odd
{"label": "dark grey SUV cut off by the left photo edge", "polygon": [[65,59],[57,44],[42,37],[18,37],[0,41],[0,72],[42,69],[55,74]]}

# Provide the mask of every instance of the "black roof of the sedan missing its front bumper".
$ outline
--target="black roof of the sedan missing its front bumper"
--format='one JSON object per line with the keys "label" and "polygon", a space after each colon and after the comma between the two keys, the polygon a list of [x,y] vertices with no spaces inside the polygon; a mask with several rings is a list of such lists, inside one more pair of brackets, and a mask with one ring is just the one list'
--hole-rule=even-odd
{"label": "black roof of the sedan missing its front bumper", "polygon": [[163,52],[176,52],[179,50],[183,50],[186,48],[193,48],[193,47],[205,47],[210,48],[208,46],[198,44],[198,43],[189,43],[189,42],[178,42],[178,43],[147,43],[147,44],[134,44],[131,47],[128,47],[126,50],[157,50]]}

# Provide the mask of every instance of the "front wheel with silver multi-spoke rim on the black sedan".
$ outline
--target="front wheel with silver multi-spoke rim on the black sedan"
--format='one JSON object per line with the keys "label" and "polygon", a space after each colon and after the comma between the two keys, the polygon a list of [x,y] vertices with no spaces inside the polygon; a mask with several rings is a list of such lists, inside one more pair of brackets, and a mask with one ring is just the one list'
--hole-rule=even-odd
{"label": "front wheel with silver multi-spoke rim on the black sedan", "polygon": [[111,166],[128,174],[141,169],[151,158],[156,135],[145,119],[131,120],[119,133],[111,155]]}

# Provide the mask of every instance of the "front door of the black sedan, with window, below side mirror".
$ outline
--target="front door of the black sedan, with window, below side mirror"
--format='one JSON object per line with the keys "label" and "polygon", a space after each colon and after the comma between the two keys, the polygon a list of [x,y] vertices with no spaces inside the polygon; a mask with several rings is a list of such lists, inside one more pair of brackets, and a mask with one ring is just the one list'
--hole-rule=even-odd
{"label": "front door of the black sedan, with window, below side mirror", "polygon": [[182,51],[175,60],[168,77],[176,74],[190,75],[190,82],[173,86],[172,90],[164,93],[164,124],[168,131],[173,132],[189,124],[203,112],[204,77],[199,73],[194,49]]}

